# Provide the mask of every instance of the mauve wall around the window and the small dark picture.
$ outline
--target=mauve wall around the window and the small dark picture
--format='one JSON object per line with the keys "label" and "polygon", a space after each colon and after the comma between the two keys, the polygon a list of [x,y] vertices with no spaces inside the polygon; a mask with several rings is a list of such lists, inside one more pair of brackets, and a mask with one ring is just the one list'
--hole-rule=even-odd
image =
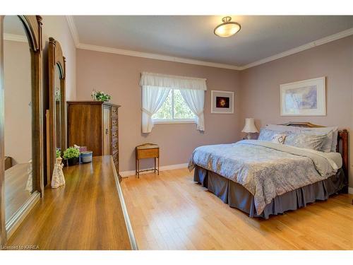
{"label": "mauve wall around the window and the small dark picture", "polygon": [[[129,57],[84,49],[76,51],[77,100],[90,100],[92,89],[112,95],[119,109],[120,171],[135,170],[135,146],[157,143],[161,165],[187,163],[194,148],[205,144],[232,143],[239,139],[239,72],[207,66]],[[150,134],[141,133],[140,73],[149,71],[207,78],[205,132],[196,124],[155,124]],[[211,114],[211,90],[234,91],[234,114]],[[151,167],[152,161],[141,163]]]}

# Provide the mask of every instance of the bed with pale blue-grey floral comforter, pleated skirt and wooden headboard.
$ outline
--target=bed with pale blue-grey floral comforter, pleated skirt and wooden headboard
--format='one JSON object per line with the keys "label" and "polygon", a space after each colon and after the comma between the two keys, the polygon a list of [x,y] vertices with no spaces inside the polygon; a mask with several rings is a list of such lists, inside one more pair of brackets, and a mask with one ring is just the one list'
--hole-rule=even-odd
{"label": "bed with pale blue-grey floral comforter, pleated skirt and wooden headboard", "polygon": [[[292,128],[325,128],[309,122]],[[348,190],[348,131],[337,131],[335,152],[324,153],[258,140],[201,146],[193,151],[189,170],[194,181],[225,204],[250,217],[296,210]]]}

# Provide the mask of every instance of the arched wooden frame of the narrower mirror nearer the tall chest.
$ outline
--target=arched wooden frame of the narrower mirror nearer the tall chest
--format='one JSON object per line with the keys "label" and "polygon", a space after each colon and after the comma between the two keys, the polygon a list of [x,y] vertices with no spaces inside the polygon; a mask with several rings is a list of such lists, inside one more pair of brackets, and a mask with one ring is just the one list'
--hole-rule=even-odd
{"label": "arched wooden frame of the narrower mirror nearer the tall chest", "polygon": [[48,48],[49,64],[49,158],[47,174],[47,185],[50,185],[54,164],[56,161],[56,98],[55,98],[55,69],[59,66],[60,77],[60,131],[61,131],[61,151],[66,149],[66,59],[63,56],[61,45],[53,37],[49,37]]}

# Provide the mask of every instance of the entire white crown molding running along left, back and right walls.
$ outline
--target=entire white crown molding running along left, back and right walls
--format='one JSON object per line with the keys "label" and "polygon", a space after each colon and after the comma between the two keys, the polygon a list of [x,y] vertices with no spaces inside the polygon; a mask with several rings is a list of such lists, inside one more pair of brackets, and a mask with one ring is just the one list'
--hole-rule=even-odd
{"label": "entire white crown molding running along left, back and right walls", "polygon": [[148,58],[148,59],[157,59],[157,60],[162,60],[162,61],[175,61],[179,63],[184,63],[184,64],[196,64],[196,65],[201,65],[201,66],[210,66],[210,67],[217,67],[217,68],[222,68],[222,69],[232,69],[232,70],[245,70],[249,69],[254,66],[258,66],[261,64],[265,64],[269,61],[274,61],[277,59],[280,59],[282,57],[287,57],[292,54],[296,54],[298,52],[302,52],[306,49],[311,49],[313,47],[317,47],[319,45],[323,45],[328,42],[333,42],[334,40],[339,40],[343,37],[347,37],[349,35],[353,35],[353,28],[349,28],[348,30],[343,30],[340,33],[336,33],[333,35],[330,35],[328,37],[323,37],[322,39],[315,40],[313,42],[309,42],[305,45],[301,45],[299,47],[296,47],[294,49],[289,49],[285,52],[281,52],[279,54],[275,54],[273,56],[258,60],[258,61],[253,61],[250,64],[246,64],[244,66],[236,66],[232,64],[219,64],[211,61],[199,61],[199,60],[194,60],[194,59],[186,59],[182,57],[171,57],[167,55],[162,55],[162,54],[154,54],[154,53],[148,53],[148,52],[136,52],[136,51],[131,51],[128,49],[116,49],[112,47],[104,47],[104,46],[97,46],[97,45],[89,45],[89,44],[84,44],[80,43],[79,37],[78,37],[78,32],[76,29],[75,22],[73,20],[73,16],[66,16],[66,20],[68,22],[68,28],[70,28],[71,35],[73,37],[73,41],[75,42],[75,46],[78,49],[88,49],[91,51],[96,51],[96,52],[108,52],[112,54],[121,54],[121,55],[127,55],[127,56],[133,56],[133,57],[142,57],[142,58]]}

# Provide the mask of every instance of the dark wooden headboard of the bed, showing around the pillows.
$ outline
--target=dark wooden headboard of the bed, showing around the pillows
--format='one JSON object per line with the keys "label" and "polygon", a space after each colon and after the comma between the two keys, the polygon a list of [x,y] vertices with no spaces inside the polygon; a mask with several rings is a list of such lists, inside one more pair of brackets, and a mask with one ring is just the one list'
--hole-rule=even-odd
{"label": "dark wooden headboard of the bed, showing around the pillows", "polygon": [[[285,126],[299,126],[299,127],[309,127],[309,128],[320,128],[325,127],[321,125],[312,124],[310,122],[288,122],[286,124],[280,124]],[[343,129],[338,131],[338,139],[336,151],[340,152],[342,155],[342,163],[343,163],[343,171],[345,175],[348,177],[348,131],[347,129]]]}

